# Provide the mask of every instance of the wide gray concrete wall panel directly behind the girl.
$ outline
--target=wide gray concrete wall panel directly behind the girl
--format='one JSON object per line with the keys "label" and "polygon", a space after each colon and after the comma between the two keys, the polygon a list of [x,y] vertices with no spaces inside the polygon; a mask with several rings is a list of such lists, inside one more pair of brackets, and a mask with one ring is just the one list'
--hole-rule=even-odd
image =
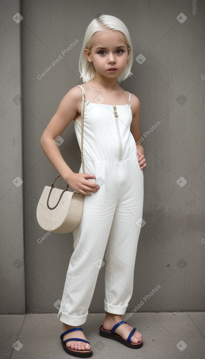
{"label": "wide gray concrete wall panel directly behind the girl", "polygon": [[[17,142],[12,142],[16,137],[11,135],[12,131],[15,134],[18,132],[15,131],[18,127],[16,119],[14,125],[10,112],[12,109],[15,114],[20,111],[20,106],[12,103],[12,96],[18,93],[15,89],[14,93],[12,90],[11,101],[7,105],[10,110],[6,107],[0,117],[3,123],[1,126],[5,128],[9,139],[5,140],[4,135],[5,144],[1,142],[1,154],[4,156],[0,164],[3,166],[1,176],[4,176],[5,192],[0,204],[3,208],[5,201],[8,212],[8,208],[15,213],[18,208],[20,210],[20,214],[13,219],[18,222],[19,231],[15,224],[6,225],[2,246],[7,251],[7,257],[12,247],[15,252],[12,261],[17,257],[22,260],[19,253],[16,255],[17,249],[14,249],[21,247],[17,246],[18,242],[22,244],[20,199],[22,188],[24,189],[24,259],[28,312],[57,313],[73,250],[71,234],[50,234],[42,243],[38,243],[45,231],[37,223],[36,206],[44,186],[51,184],[56,176],[55,169],[40,147],[40,138],[63,96],[69,89],[82,83],[78,70],[81,46],[86,27],[99,13],[120,18],[130,30],[135,59],[133,76],[121,83],[121,86],[140,99],[140,128],[147,160],[147,167],[143,170],[143,219],[146,224],[141,228],[135,289],[128,311],[132,311],[137,305],[138,311],[205,310],[205,3],[193,3],[194,6],[192,1],[185,0],[22,1],[23,187],[16,188],[8,180],[11,179],[12,182],[13,178],[21,177],[21,136],[17,149],[13,148]],[[13,23],[12,26],[14,24],[17,25]],[[13,27],[7,31],[11,32],[11,28]],[[0,39],[2,36],[5,33]],[[10,41],[9,36],[5,38],[5,48],[8,46],[7,41]],[[62,56],[46,76],[38,79],[53,60],[76,39],[79,42]],[[9,66],[6,67],[5,64],[5,69],[13,69],[13,61],[10,56]],[[16,72],[15,76],[9,70],[5,72],[10,79],[9,83],[14,81]],[[15,84],[16,82],[15,78]],[[6,80],[3,86],[3,103],[7,104]],[[9,127],[5,125],[5,111],[8,112]],[[20,123],[19,113],[19,125]],[[62,137],[64,142],[60,150],[70,167],[77,172],[80,150],[73,124],[68,126]],[[7,168],[10,174],[6,172]],[[65,184],[59,180],[59,185]],[[14,192],[15,203],[12,203],[11,196]],[[2,212],[3,223],[8,223],[4,208]],[[4,260],[4,254],[2,257],[5,262],[2,263],[2,268],[5,274],[11,273],[8,275],[13,285],[12,273],[15,271],[19,275],[23,266],[15,269],[12,261]],[[5,276],[2,280],[8,284],[9,278]],[[22,290],[16,286],[7,296],[23,293],[23,276],[21,285]],[[90,312],[103,312],[103,300],[104,268],[99,273]],[[14,310],[12,300],[9,299],[6,309],[2,311],[19,313],[21,303],[23,301],[18,297]]]}

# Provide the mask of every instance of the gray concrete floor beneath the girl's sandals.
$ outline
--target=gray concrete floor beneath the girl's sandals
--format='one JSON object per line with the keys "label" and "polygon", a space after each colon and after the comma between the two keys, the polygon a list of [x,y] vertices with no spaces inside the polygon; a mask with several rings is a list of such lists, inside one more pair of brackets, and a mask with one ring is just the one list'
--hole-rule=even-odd
{"label": "gray concrete floor beneath the girl's sandals", "polygon": [[[205,359],[205,312],[137,313],[129,319],[143,335],[137,350],[100,337],[104,314],[89,314],[82,326],[97,359]],[[68,359],[57,314],[0,315],[1,359]]]}

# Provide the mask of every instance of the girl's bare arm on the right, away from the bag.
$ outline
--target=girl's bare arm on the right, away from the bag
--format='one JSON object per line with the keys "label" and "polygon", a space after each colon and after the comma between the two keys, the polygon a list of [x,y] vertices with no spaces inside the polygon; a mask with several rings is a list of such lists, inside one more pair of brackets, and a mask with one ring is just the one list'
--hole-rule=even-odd
{"label": "girl's bare arm on the right, away from the bag", "polygon": [[137,145],[137,155],[139,156],[138,158],[139,166],[140,169],[143,170],[143,168],[146,167],[146,159],[144,157],[144,148],[141,145],[141,141],[140,141],[141,135],[140,135],[139,124],[140,124],[141,109],[140,109],[140,102],[137,96],[132,94],[131,103],[132,103],[133,120],[130,126],[130,131],[135,138],[135,142]]}

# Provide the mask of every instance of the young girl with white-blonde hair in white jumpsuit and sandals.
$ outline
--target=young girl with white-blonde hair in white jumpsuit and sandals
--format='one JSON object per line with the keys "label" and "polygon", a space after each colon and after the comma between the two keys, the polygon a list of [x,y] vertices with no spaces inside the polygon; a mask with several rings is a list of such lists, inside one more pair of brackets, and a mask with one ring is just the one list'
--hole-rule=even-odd
{"label": "young girl with white-blonde hair in white jumpsuit and sandals", "polygon": [[[143,209],[143,172],[140,144],[140,102],[119,83],[129,75],[133,49],[127,27],[119,19],[101,15],[87,28],[79,67],[83,86],[68,91],[41,138],[41,146],[58,173],[75,191],[85,195],[83,217],[73,231],[71,256],[58,317],[64,350],[75,357],[91,357],[82,331],[105,257],[106,311],[100,335],[137,349],[142,336],[123,321],[133,292],[139,222]],[[81,144],[81,103],[85,94],[84,161],[73,173],[53,141],[74,119]]]}

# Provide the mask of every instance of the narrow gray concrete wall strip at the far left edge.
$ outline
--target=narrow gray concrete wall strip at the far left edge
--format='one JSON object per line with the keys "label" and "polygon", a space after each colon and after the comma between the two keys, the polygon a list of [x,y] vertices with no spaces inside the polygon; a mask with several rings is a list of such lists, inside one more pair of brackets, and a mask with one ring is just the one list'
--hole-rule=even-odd
{"label": "narrow gray concrete wall strip at the far left edge", "polygon": [[19,1],[0,1],[0,313],[25,311]]}

